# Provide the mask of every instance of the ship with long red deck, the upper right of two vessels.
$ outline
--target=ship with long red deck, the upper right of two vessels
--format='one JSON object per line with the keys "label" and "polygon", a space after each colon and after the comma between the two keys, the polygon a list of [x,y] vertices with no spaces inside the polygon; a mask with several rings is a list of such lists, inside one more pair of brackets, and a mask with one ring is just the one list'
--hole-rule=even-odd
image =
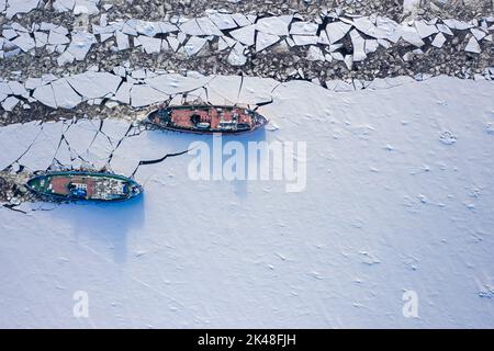
{"label": "ship with long red deck, the upper right of two vessels", "polygon": [[147,122],[161,129],[193,134],[245,134],[267,123],[259,113],[235,106],[187,105],[157,109]]}

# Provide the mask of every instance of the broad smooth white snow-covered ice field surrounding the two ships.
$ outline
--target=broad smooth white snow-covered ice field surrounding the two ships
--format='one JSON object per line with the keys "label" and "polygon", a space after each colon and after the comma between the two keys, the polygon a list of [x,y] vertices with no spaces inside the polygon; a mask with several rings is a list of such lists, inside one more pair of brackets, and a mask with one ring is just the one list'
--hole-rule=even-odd
{"label": "broad smooth white snow-covered ice field surrounding the two ships", "polygon": [[[239,80],[217,89],[246,99],[273,84]],[[0,207],[0,327],[492,328],[494,84],[379,86],[273,87],[258,110],[270,127],[235,139],[306,141],[299,193],[282,181],[192,181],[183,155],[139,168],[145,193],[131,202]],[[0,128],[0,168],[36,135],[21,162],[46,168],[67,124]],[[111,147],[93,140],[98,127],[80,120],[66,138],[101,167]],[[127,127],[106,120],[102,131],[115,143]],[[130,176],[211,138],[144,132],[112,168]],[[89,294],[89,318],[72,315],[76,291]],[[417,318],[402,314],[405,291],[418,295]]]}

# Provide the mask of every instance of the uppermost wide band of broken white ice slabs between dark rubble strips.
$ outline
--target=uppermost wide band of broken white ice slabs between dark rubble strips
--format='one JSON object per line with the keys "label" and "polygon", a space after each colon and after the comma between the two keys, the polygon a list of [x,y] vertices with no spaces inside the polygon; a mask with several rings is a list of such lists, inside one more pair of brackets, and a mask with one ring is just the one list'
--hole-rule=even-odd
{"label": "uppermost wide band of broken white ice slabs between dark rubble strips", "polygon": [[[77,8],[79,1],[82,0],[67,1],[66,5],[71,9]],[[91,1],[85,1],[92,3]],[[61,4],[59,2],[60,7]],[[115,50],[125,50],[134,46],[141,47],[147,54],[180,50],[188,56],[198,55],[207,42],[217,41],[220,50],[232,50],[228,63],[242,66],[247,58],[244,59],[240,55],[243,50],[236,45],[238,43],[245,47],[255,45],[256,52],[265,50],[283,38],[287,38],[290,46],[305,46],[308,49],[311,45],[318,45],[321,48],[327,48],[327,46],[339,44],[347,35],[353,38],[357,38],[357,35],[364,35],[366,39],[377,39],[379,44],[386,48],[396,44],[400,39],[413,46],[422,47],[431,43],[431,36],[439,32],[448,36],[454,36],[451,31],[454,30],[471,32],[479,44],[481,41],[492,41],[493,25],[490,20],[489,18],[481,19],[475,22],[472,21],[472,23],[456,19],[417,20],[398,24],[391,19],[373,14],[350,19],[345,16],[330,18],[330,22],[322,27],[323,23],[302,21],[302,16],[272,15],[248,19],[239,13],[210,11],[206,16],[197,19],[179,18],[179,23],[148,22],[135,19],[116,20],[108,23],[105,18],[102,16],[100,24],[93,24],[92,32],[89,33],[80,31],[68,33],[65,27],[50,23],[33,24],[33,27],[27,30],[19,27],[13,22],[4,25],[0,50],[3,49],[5,56],[13,56],[18,55],[19,50],[31,52],[46,46],[49,52],[61,53],[58,64],[65,65],[71,63],[74,58],[82,59],[91,46],[98,43],[98,39],[102,43],[114,38],[116,45],[113,48]],[[319,27],[321,33],[316,35]],[[157,37],[158,35],[159,37]],[[133,37],[133,41],[131,41],[131,37]],[[448,39],[444,35],[436,35],[436,37],[438,39],[433,45],[436,47],[442,46],[444,38]],[[68,47],[64,46],[69,43],[71,44]],[[80,49],[77,49],[77,55],[74,54],[76,47],[80,47]],[[364,58],[362,53],[370,53],[362,50],[360,44],[353,50],[350,55],[355,60]],[[475,42],[470,41],[465,50],[478,54],[481,46],[480,44],[476,46]],[[330,47],[329,52],[332,52]]]}

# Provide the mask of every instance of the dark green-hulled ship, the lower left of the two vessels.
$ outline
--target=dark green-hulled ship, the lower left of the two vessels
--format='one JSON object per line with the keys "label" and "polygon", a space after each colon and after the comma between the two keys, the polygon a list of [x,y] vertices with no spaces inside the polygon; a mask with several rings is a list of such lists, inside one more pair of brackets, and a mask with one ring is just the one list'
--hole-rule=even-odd
{"label": "dark green-hulled ship, the lower left of the two vessels", "polygon": [[59,171],[35,176],[25,186],[48,201],[122,202],[138,196],[143,188],[120,174]]}

